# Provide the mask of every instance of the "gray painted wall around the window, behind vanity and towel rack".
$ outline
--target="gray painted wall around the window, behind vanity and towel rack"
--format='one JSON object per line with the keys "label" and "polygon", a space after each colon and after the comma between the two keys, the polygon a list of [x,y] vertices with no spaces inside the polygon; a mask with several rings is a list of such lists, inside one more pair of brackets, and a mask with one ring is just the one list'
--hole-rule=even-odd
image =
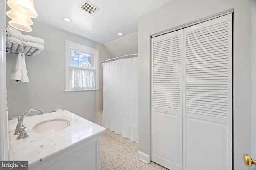
{"label": "gray painted wall around the window, behind vanity and towel rack", "polygon": [[17,55],[6,55],[9,119],[32,108],[41,109],[44,113],[67,109],[96,123],[96,90],[64,92],[65,40],[92,48],[96,48],[96,42],[37,22],[34,22],[32,29],[32,32],[22,34],[40,37],[45,43],[40,54],[26,57],[30,82],[9,79]]}

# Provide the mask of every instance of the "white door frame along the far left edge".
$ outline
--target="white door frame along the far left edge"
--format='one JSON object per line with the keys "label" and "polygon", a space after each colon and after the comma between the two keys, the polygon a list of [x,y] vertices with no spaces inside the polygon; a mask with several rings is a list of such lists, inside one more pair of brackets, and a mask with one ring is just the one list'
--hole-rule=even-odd
{"label": "white door frame along the far left edge", "polygon": [[8,160],[8,114],[6,107],[6,0],[0,2],[0,160]]}

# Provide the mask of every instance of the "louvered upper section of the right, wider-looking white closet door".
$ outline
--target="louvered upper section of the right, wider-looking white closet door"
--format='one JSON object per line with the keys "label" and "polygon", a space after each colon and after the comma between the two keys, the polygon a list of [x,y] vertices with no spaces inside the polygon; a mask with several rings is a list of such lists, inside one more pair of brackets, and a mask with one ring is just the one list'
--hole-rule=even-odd
{"label": "louvered upper section of the right, wider-looking white closet door", "polygon": [[186,113],[228,116],[228,21],[186,32]]}

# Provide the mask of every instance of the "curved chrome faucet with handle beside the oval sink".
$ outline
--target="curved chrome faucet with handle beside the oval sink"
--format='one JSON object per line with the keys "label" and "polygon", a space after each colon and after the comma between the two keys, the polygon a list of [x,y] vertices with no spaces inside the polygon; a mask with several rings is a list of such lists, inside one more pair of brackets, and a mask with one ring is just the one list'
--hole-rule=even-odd
{"label": "curved chrome faucet with handle beside the oval sink", "polygon": [[31,111],[37,111],[39,113],[39,115],[43,114],[43,112],[40,109],[30,109],[30,110],[26,111],[25,113],[23,113],[21,115],[21,117],[18,116],[18,124],[16,126],[15,133],[14,133],[14,135],[19,135],[17,137],[17,139],[24,139],[24,138],[28,137],[28,133],[26,133],[26,131],[25,131],[26,127],[23,125],[23,119]]}

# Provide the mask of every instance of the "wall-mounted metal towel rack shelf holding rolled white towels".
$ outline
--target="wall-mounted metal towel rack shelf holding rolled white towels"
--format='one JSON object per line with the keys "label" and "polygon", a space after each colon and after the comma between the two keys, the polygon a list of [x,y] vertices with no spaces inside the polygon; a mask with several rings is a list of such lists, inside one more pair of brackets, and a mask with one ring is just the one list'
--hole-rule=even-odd
{"label": "wall-mounted metal towel rack shelf holding rolled white towels", "polygon": [[[6,36],[11,36],[11,37],[16,37],[14,35],[8,34],[6,33]],[[7,53],[23,53],[26,49],[26,53],[24,53],[24,55],[26,56],[31,56],[33,55],[38,49],[36,47],[31,47],[29,45],[25,45],[23,39],[21,39],[20,37],[16,37],[18,39],[20,39],[20,43],[18,42],[14,42],[14,41],[10,41],[8,39],[6,39],[6,52]],[[7,47],[8,46],[10,47]]]}

